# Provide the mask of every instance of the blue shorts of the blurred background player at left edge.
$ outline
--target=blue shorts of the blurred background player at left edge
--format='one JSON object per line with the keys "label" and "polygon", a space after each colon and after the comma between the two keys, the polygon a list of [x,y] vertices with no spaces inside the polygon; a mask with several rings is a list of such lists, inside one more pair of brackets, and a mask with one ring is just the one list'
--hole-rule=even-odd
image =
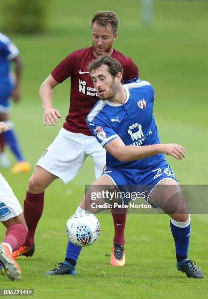
{"label": "blue shorts of the blurred background player at left edge", "polygon": [[12,81],[8,79],[0,80],[0,112],[8,113],[10,110],[10,96],[14,85]]}

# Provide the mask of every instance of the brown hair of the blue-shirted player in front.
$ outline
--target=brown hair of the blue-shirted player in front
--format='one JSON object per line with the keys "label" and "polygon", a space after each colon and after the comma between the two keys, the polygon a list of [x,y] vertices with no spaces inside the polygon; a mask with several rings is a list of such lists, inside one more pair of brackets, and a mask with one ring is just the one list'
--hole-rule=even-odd
{"label": "brown hair of the blue-shirted player in front", "polygon": [[92,60],[88,64],[88,70],[90,71],[90,75],[93,69],[97,69],[102,64],[106,64],[108,66],[108,71],[112,77],[116,77],[118,72],[121,72],[123,76],[123,68],[122,65],[117,61],[117,59],[112,58],[109,54],[103,53],[97,59]]}

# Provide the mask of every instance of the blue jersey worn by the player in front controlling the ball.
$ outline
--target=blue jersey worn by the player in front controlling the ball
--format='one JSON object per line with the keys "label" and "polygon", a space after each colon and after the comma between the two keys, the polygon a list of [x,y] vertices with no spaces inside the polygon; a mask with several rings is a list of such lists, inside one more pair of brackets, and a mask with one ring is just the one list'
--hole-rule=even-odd
{"label": "blue jersey worn by the player in front controlling the ball", "polygon": [[[87,116],[87,124],[101,146],[119,136],[126,146],[159,144],[153,117],[154,89],[147,81],[123,85],[127,98],[123,105],[98,101]],[[136,161],[119,161],[107,151],[106,165],[148,170],[165,162],[163,154]]]}

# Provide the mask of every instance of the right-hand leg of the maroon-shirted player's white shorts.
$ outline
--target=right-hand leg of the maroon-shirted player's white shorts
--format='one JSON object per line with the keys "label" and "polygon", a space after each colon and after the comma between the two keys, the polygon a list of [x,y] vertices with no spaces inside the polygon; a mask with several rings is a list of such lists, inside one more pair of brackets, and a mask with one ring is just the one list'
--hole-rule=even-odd
{"label": "right-hand leg of the maroon-shirted player's white shorts", "polygon": [[103,172],[103,167],[106,163],[106,150],[99,144],[95,137],[86,136],[85,152],[92,157],[94,174],[98,178]]}

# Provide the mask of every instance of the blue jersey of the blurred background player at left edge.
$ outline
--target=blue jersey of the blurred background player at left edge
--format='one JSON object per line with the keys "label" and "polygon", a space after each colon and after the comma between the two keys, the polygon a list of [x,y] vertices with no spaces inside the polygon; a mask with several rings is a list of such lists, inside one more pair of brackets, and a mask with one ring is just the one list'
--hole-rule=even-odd
{"label": "blue jersey of the blurred background player at left edge", "polygon": [[0,33],[0,79],[9,77],[10,60],[19,55],[18,48],[4,34]]}

